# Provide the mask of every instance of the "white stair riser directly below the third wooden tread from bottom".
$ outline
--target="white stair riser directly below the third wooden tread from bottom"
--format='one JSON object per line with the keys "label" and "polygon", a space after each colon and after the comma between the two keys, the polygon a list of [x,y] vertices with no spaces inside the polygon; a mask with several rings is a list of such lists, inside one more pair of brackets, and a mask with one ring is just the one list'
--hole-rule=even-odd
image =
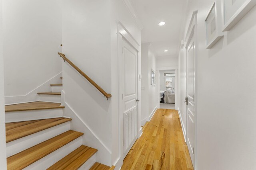
{"label": "white stair riser directly below the third wooden tread from bottom", "polygon": [[75,139],[74,141],[64,145],[60,149],[55,150],[54,152],[44,156],[40,160],[34,162],[30,166],[27,166],[23,170],[46,170],[60,159],[64,158],[66,155],[70,154],[70,152],[76,150],[78,147],[82,145],[82,137]]}

